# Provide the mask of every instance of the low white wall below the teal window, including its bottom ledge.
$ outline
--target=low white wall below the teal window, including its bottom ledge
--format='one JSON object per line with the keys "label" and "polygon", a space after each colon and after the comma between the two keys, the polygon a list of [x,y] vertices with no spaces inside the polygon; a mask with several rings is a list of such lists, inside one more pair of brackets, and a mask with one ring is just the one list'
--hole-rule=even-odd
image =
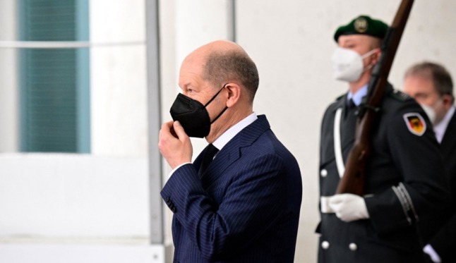
{"label": "low white wall below the teal window, including its bottom ledge", "polygon": [[164,262],[150,245],[148,161],[0,155],[0,262]]}

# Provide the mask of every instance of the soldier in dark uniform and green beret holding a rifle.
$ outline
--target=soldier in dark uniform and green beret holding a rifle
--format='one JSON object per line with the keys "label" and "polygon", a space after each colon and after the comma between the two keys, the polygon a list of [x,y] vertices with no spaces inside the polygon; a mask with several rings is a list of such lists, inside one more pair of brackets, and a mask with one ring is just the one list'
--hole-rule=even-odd
{"label": "soldier in dark uniform and green beret holding a rifle", "polygon": [[388,25],[359,16],[337,29],[335,78],[349,92],[325,111],[320,136],[318,262],[426,262],[417,221],[445,211],[450,200],[431,123],[408,95],[390,85],[373,126],[365,195],[335,195],[354,143],[356,110],[367,93]]}

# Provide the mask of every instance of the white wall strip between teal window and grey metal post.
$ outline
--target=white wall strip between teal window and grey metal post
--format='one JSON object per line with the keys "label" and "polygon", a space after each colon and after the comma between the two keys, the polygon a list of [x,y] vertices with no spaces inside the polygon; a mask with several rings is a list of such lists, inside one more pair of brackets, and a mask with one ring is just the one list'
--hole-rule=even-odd
{"label": "white wall strip between teal window and grey metal post", "polygon": [[92,154],[148,154],[145,1],[90,1]]}

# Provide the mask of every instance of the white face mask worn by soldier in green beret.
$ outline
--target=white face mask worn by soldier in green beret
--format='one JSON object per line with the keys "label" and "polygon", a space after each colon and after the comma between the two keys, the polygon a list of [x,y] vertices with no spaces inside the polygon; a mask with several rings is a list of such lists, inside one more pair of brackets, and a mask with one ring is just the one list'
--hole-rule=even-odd
{"label": "white face mask worn by soldier in green beret", "polygon": [[[355,82],[356,80],[359,80],[361,73],[364,72],[363,59],[371,56],[375,51],[376,49],[372,49],[361,56],[358,52],[353,51],[352,49],[337,47],[331,58],[333,77],[336,80],[343,80],[347,82]],[[369,68],[371,68],[371,66]]]}

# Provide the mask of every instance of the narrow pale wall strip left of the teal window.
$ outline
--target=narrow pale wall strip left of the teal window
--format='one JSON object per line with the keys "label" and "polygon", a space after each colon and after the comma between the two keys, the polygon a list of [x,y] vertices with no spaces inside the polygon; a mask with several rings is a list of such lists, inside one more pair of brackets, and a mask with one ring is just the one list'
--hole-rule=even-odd
{"label": "narrow pale wall strip left of the teal window", "polygon": [[[0,1],[0,41],[16,40],[16,1]],[[18,150],[18,56],[0,49],[0,152]]]}

